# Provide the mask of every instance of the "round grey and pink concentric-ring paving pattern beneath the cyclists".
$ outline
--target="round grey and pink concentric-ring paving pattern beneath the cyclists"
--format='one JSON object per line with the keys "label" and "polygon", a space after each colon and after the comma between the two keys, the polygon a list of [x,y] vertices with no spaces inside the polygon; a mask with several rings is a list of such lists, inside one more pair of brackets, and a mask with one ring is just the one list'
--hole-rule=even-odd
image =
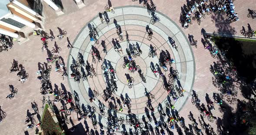
{"label": "round grey and pink concentric-ring paving pattern beneath the cyclists", "polygon": [[[155,108],[154,116],[159,120],[159,113],[157,107],[159,103],[165,109],[165,100],[171,100],[171,103],[174,104],[175,109],[179,111],[184,103],[187,101],[187,97],[190,95],[190,91],[194,85],[195,77],[195,62],[192,49],[187,41],[186,36],[181,31],[181,29],[167,16],[164,16],[162,13],[156,12],[156,15],[160,18],[160,21],[152,25],[150,23],[151,16],[148,15],[147,9],[141,6],[122,6],[115,8],[115,13],[108,13],[108,18],[110,23],[107,25],[105,22],[101,23],[98,16],[92,19],[85,27],[80,31],[79,35],[76,37],[73,46],[70,50],[70,54],[78,60],[79,55],[83,55],[83,59],[88,61],[90,64],[93,64],[97,76],[93,78],[88,77],[88,81],[80,81],[80,83],[75,82],[73,78],[69,76],[69,87],[79,96],[82,106],[95,106],[96,107],[96,118],[98,122],[101,122],[106,126],[107,122],[107,112],[108,112],[108,103],[102,99],[103,90],[106,89],[107,84],[105,83],[106,74],[102,70],[101,65],[111,65],[117,71],[115,74],[116,83],[118,90],[115,91],[115,97],[121,100],[121,96],[124,98],[129,97],[131,99],[131,113],[134,113],[138,116],[138,119],[142,122],[142,118],[146,117],[146,113],[149,109],[146,106],[148,100],[144,96],[145,91],[151,92],[154,94],[154,100],[152,101],[152,106]],[[121,30],[124,33],[124,40],[120,40],[116,33],[115,23],[121,26]],[[99,44],[95,44],[94,41],[90,41],[89,29],[92,25],[98,30],[97,39]],[[146,26],[149,26],[153,30],[152,39],[149,41],[147,39],[148,34],[146,32]],[[125,31],[128,32],[130,44],[126,41]],[[170,43],[169,38],[175,41],[175,44],[178,45],[177,50],[175,50]],[[123,53],[118,53],[113,47],[112,40],[118,41],[118,45],[121,46]],[[101,42],[105,41],[108,53],[103,52],[103,47]],[[141,73],[143,73],[146,83],[141,81],[141,77],[138,72],[131,73],[127,68],[123,68],[124,57],[127,57],[126,49],[129,48],[132,44],[138,45],[142,51],[140,56],[134,58],[136,64],[141,67]],[[103,61],[93,63],[92,62],[92,45],[95,46]],[[157,56],[152,58],[148,56],[150,45],[156,47]],[[180,79],[174,82],[174,86],[180,86],[186,92],[183,97],[180,97],[179,100],[174,101],[173,99],[167,99],[167,91],[163,88],[163,79],[159,76],[154,76],[151,71],[151,64],[156,66],[158,64],[158,59],[162,51],[168,51],[171,54],[171,58],[174,58],[175,63],[172,64],[174,69],[177,69],[179,72]],[[72,64],[72,58],[68,59],[68,68]],[[161,71],[168,79],[168,71]],[[85,67],[83,67],[85,69]],[[68,74],[71,74],[71,68],[68,69]],[[81,71],[80,71],[81,73]],[[135,82],[133,87],[128,88],[127,78],[125,74],[133,77]],[[109,76],[110,77],[110,76]],[[180,84],[180,85],[179,85]],[[99,93],[97,100],[93,103],[89,102],[89,95],[91,95],[92,90],[96,90]],[[99,112],[99,105],[104,104],[105,106],[105,116],[102,116]],[[122,103],[123,105],[123,103]],[[128,114],[127,106],[123,107],[123,112],[118,113],[118,117],[123,116],[126,118]],[[151,114],[151,113],[150,113]],[[148,119],[146,119],[148,120]],[[167,120],[165,117],[164,120]],[[126,124],[124,122],[124,124]],[[154,124],[151,124],[154,127]],[[127,131],[129,131],[130,125],[125,126]]]}

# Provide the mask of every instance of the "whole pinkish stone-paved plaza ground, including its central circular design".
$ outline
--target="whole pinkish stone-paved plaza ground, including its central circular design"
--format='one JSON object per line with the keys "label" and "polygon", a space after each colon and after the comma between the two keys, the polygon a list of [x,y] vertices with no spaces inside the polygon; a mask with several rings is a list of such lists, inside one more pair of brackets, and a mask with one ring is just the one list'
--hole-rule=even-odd
{"label": "whole pinkish stone-paved plaza ground, including its central circular design", "polygon": [[[191,121],[188,119],[190,113],[193,114],[194,119],[198,120],[200,117],[200,112],[191,103],[192,91],[196,91],[198,98],[201,103],[207,104],[205,98],[207,95],[210,98],[213,97],[213,93],[220,93],[218,87],[213,84],[213,74],[210,72],[209,68],[213,62],[218,63],[219,59],[212,58],[209,51],[206,51],[201,42],[202,29],[207,33],[216,33],[220,35],[235,35],[242,36],[240,30],[242,26],[247,26],[247,23],[251,25],[252,28],[256,27],[255,19],[247,18],[247,9],[256,9],[255,0],[236,0],[234,2],[236,6],[236,12],[238,13],[240,20],[235,23],[227,23],[225,15],[206,15],[200,25],[195,21],[193,25],[190,25],[188,29],[183,29],[179,23],[181,7],[187,5],[186,0],[155,0],[154,3],[157,5],[156,16],[160,18],[159,22],[150,23],[151,16],[148,14],[147,8],[143,7],[143,3],[139,4],[139,0],[132,2],[132,0],[111,0],[112,5],[115,9],[115,13],[108,12],[108,18],[110,23],[102,23],[98,17],[99,12],[104,11],[105,5],[108,3],[107,0],[85,0],[85,7],[78,9],[72,0],[62,0],[64,6],[64,13],[61,16],[56,16],[51,7],[45,6],[44,13],[46,16],[46,32],[49,33],[51,29],[55,36],[59,35],[59,29],[67,31],[67,37],[74,48],[67,48],[68,41],[66,37],[59,40],[49,41],[49,48],[58,45],[62,48],[59,56],[62,57],[62,61],[66,64],[67,73],[69,76],[62,79],[61,74],[58,74],[52,70],[51,72],[51,82],[53,88],[61,88],[73,94],[73,96],[78,96],[81,106],[95,106],[96,108],[96,119],[97,122],[102,123],[106,131],[106,122],[108,112],[108,102],[105,102],[102,98],[104,90],[107,87],[106,75],[104,70],[102,70],[102,65],[109,65],[114,67],[116,73],[115,77],[117,79],[118,89],[115,91],[114,96],[119,100],[124,98],[131,99],[131,113],[134,113],[140,122],[148,121],[147,113],[150,112],[152,118],[156,120],[160,119],[160,114],[158,113],[158,106],[164,109],[167,116],[164,117],[164,121],[167,123],[167,119],[171,114],[178,113],[179,116],[183,117],[185,124],[189,127]],[[123,40],[119,39],[116,33],[116,25],[121,26],[123,32]],[[89,30],[94,26],[97,31],[97,39],[99,44],[95,44],[94,41],[90,40]],[[146,32],[146,27],[153,30],[152,39],[148,40],[148,32]],[[129,35],[129,42],[126,39],[126,32]],[[194,39],[198,41],[197,48],[190,45],[188,40],[188,35],[194,35]],[[171,45],[171,39],[175,41],[178,45],[177,50]],[[123,53],[118,53],[114,49],[113,40],[121,46]],[[102,41],[105,42],[107,47],[107,54],[103,51],[101,45]],[[136,64],[140,66],[141,73],[143,73],[146,83],[141,80],[139,73],[136,71],[132,73],[128,71],[127,68],[123,68],[124,58],[128,57],[127,50],[131,48],[131,45],[138,45],[142,53],[140,56],[134,58]],[[150,46],[156,48],[157,56],[154,58],[149,57]],[[92,47],[93,46],[93,47]],[[33,113],[31,108],[31,102],[35,101],[39,106],[39,111],[42,111],[42,95],[40,94],[40,80],[37,79],[36,71],[38,71],[41,64],[47,63],[47,52],[41,51],[41,41],[39,36],[30,36],[30,41],[26,42],[24,45],[14,44],[14,47],[7,52],[0,53],[1,66],[0,66],[0,109],[7,113],[7,116],[0,123],[0,135],[32,135],[34,134],[34,129],[27,129],[24,120],[28,112]],[[102,61],[93,62],[92,61],[92,49],[97,48],[102,57]],[[164,79],[155,76],[151,71],[152,65],[157,68],[159,65],[159,57],[163,51],[168,51],[171,58],[175,60],[174,64],[171,66],[174,70],[179,72],[178,81],[174,81],[174,86],[180,87],[184,92],[184,96],[180,96],[177,101],[173,98],[167,96],[167,90],[164,89]],[[96,76],[88,77],[88,81],[80,80],[80,83],[74,81],[70,76],[72,73],[71,64],[78,61],[79,55],[82,55],[85,62],[93,64],[95,68]],[[11,62],[13,59],[18,61],[26,68],[26,72],[29,73],[29,78],[24,84],[20,84],[19,78],[16,73],[10,73]],[[51,64],[53,69],[54,64]],[[85,67],[83,67],[85,68]],[[164,76],[169,80],[168,74],[170,73],[170,66],[168,65],[167,71],[164,71],[162,67],[161,71]],[[84,69],[85,70],[85,69]],[[79,72],[82,74],[81,68]],[[134,78],[134,83],[131,88],[128,87],[127,75]],[[13,85],[18,89],[18,93],[12,100],[7,100],[6,96],[10,94],[9,85]],[[92,103],[89,101],[93,90],[96,90],[99,95],[96,97],[95,101]],[[150,92],[154,95],[154,100],[152,101],[152,106],[154,108],[154,113],[148,110],[146,103],[148,98],[145,96],[146,92]],[[53,100],[53,95],[45,95]],[[240,91],[237,93],[236,97],[230,97],[234,99],[243,99],[242,93]],[[166,107],[165,101],[171,102],[175,109],[170,109]],[[232,100],[235,101],[235,100]],[[236,111],[236,103],[232,102],[227,98],[223,98],[223,102],[229,104],[232,108],[232,112]],[[161,104],[161,105],[160,105]],[[121,102],[121,105],[124,104]],[[61,103],[56,103],[56,106],[60,108]],[[100,113],[99,106],[105,106],[105,115]],[[176,111],[176,112],[175,112]],[[213,116],[217,119],[223,119],[224,112],[220,107],[215,104],[215,110],[211,111]],[[123,106],[123,111],[118,113],[118,117],[126,118],[128,114],[127,106]],[[152,115],[153,114],[153,115]],[[36,118],[36,116],[34,116]],[[39,116],[37,116],[39,118]],[[77,114],[72,113],[70,116],[74,125],[79,125],[83,129],[89,129],[91,133],[98,135],[100,133],[100,126],[95,130],[92,126],[92,120],[87,118],[86,120],[77,120]],[[38,122],[38,119],[36,119]],[[209,122],[207,118],[204,120],[213,127],[214,131],[217,130],[217,122]],[[154,120],[152,120],[151,125],[155,128]],[[67,125],[69,128],[72,124]],[[199,125],[200,127],[200,125]],[[159,128],[159,127],[158,127]],[[157,128],[157,129],[158,129]],[[117,135],[121,134],[123,130],[134,131],[134,128],[129,124],[124,122],[121,126],[120,131],[116,132]],[[161,129],[161,128],[159,128]],[[177,129],[168,129],[171,134],[178,135]],[[183,130],[183,129],[182,129]],[[166,131],[166,129],[165,129]],[[77,129],[75,132],[70,132],[71,135],[82,135],[85,134],[82,129]],[[105,132],[106,134],[106,132]],[[167,133],[166,133],[167,134]],[[94,134],[91,134],[94,135]],[[131,134],[130,134],[131,135]],[[170,134],[168,134],[170,135]]]}

